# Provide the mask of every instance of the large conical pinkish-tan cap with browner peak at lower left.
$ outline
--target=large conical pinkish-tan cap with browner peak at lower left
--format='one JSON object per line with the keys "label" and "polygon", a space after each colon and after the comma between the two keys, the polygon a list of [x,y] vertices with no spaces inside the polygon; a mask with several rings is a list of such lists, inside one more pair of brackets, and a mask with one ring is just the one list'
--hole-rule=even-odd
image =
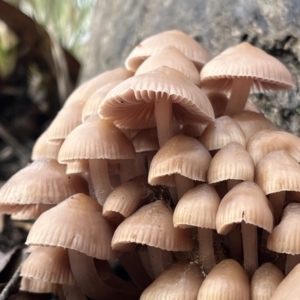
{"label": "large conical pinkish-tan cap with browner peak at lower left", "polygon": [[[80,221],[81,220],[81,221]],[[29,231],[26,244],[73,249],[98,259],[116,258],[110,243],[114,228],[101,206],[76,194],[44,212]]]}

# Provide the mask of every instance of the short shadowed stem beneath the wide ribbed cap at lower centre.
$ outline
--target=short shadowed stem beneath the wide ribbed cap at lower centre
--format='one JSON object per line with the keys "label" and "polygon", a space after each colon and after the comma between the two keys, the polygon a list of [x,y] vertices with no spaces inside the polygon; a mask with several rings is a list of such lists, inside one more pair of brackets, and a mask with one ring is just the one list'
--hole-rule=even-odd
{"label": "short shadowed stem beneath the wide ribbed cap at lower centre", "polygon": [[156,247],[147,246],[148,255],[154,277],[157,278],[164,270],[173,264],[172,253]]}

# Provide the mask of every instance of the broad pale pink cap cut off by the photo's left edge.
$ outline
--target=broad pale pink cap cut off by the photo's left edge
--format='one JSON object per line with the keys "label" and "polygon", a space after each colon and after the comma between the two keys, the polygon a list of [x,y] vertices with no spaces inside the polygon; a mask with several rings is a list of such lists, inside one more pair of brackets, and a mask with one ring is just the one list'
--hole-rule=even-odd
{"label": "broad pale pink cap cut off by the photo's left edge", "polygon": [[0,189],[2,204],[57,204],[75,193],[87,192],[79,175],[66,175],[56,160],[40,158],[14,174]]}

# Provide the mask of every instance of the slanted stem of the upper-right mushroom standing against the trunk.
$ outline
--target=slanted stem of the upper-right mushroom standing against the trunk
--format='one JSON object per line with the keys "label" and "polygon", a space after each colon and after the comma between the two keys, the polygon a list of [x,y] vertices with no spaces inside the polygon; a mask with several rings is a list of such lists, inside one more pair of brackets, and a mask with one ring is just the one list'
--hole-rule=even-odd
{"label": "slanted stem of the upper-right mushroom standing against the trunk", "polygon": [[225,108],[224,115],[230,116],[244,110],[252,82],[253,80],[250,77],[233,80],[230,98]]}

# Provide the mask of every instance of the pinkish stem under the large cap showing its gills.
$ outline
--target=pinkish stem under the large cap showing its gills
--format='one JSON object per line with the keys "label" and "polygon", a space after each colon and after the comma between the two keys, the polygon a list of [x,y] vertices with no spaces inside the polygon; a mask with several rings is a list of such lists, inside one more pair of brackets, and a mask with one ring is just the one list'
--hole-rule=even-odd
{"label": "pinkish stem under the large cap showing its gills", "polygon": [[172,119],[171,99],[167,95],[155,99],[155,121],[160,148],[173,136]]}

